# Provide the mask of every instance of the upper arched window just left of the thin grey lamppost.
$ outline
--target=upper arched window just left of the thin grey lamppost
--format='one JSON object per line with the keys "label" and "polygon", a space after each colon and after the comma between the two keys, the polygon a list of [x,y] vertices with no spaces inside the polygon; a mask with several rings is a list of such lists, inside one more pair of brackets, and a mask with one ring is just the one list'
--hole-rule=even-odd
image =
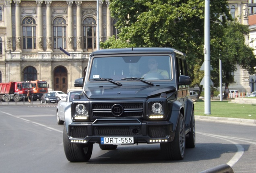
{"label": "upper arched window just left of the thin grey lamppost", "polygon": [[96,48],[96,20],[88,17],[83,22],[84,49]]}

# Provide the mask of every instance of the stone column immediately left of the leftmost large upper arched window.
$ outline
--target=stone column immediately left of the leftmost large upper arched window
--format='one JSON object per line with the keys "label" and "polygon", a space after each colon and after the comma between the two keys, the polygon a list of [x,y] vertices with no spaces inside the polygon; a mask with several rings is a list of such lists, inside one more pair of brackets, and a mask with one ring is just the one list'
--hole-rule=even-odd
{"label": "stone column immediately left of the leftmost large upper arched window", "polygon": [[16,42],[16,49],[15,52],[21,52],[21,10],[20,10],[20,4],[21,1],[13,1],[15,3],[15,42]]}

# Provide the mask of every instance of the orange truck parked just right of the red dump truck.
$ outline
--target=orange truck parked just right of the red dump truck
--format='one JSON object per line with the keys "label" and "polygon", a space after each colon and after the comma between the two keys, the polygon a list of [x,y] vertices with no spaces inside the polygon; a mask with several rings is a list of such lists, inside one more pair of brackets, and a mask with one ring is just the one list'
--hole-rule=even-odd
{"label": "orange truck parked just right of the red dump truck", "polygon": [[48,93],[48,86],[45,80],[31,80],[32,83],[32,99],[36,101],[41,99],[43,93]]}

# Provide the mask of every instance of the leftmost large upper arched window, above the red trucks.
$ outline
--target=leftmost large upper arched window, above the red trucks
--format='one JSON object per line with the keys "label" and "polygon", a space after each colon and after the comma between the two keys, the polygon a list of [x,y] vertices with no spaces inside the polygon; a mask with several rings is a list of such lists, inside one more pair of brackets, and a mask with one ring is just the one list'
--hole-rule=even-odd
{"label": "leftmost large upper arched window, above the red trucks", "polygon": [[36,48],[36,28],[35,19],[26,17],[22,22],[23,29],[23,49]]}

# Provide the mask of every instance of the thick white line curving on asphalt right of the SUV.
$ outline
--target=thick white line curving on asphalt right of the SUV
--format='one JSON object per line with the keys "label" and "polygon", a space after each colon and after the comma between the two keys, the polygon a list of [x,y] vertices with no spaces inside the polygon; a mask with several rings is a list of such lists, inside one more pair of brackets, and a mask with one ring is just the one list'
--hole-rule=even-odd
{"label": "thick white line curving on asphalt right of the SUV", "polygon": [[[200,133],[200,132],[196,132],[198,134],[201,135],[205,135],[205,136],[209,136],[209,137],[215,137],[215,138],[219,138],[219,139],[223,139],[225,141],[228,141],[230,143],[233,143],[236,147],[237,147],[237,152],[235,153],[235,155],[229,160],[229,162],[227,163],[227,165],[229,166],[233,166],[235,165],[235,163],[237,163],[237,161],[239,161],[239,159],[242,157],[242,155],[244,154],[244,147],[242,145],[240,145],[239,143],[236,143],[234,141],[230,141],[228,140],[229,137],[225,137],[225,136],[220,136],[220,135],[212,135],[212,134],[206,134],[206,133]],[[227,138],[227,139],[226,139]],[[232,138],[231,138],[232,139]]]}

